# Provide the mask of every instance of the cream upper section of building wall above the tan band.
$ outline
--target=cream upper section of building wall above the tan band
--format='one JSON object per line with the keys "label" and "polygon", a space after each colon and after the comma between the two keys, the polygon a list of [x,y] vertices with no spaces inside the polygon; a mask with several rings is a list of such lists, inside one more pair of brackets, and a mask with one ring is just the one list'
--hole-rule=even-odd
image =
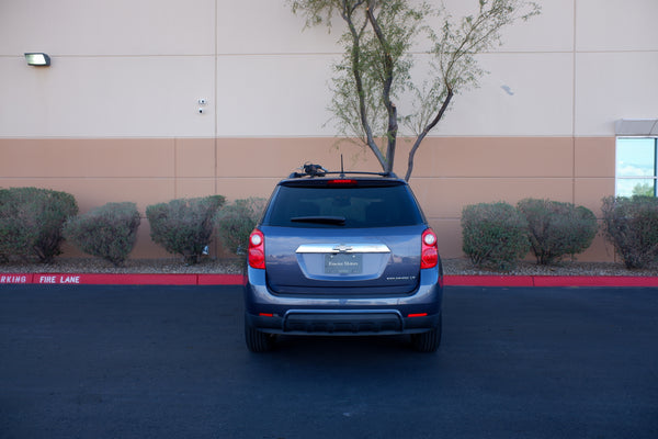
{"label": "cream upper section of building wall above the tan band", "polygon": [[[434,135],[611,135],[657,115],[658,0],[540,3]],[[331,136],[334,24],[303,31],[283,0],[0,0],[0,136]],[[53,66],[27,67],[32,50]]]}

